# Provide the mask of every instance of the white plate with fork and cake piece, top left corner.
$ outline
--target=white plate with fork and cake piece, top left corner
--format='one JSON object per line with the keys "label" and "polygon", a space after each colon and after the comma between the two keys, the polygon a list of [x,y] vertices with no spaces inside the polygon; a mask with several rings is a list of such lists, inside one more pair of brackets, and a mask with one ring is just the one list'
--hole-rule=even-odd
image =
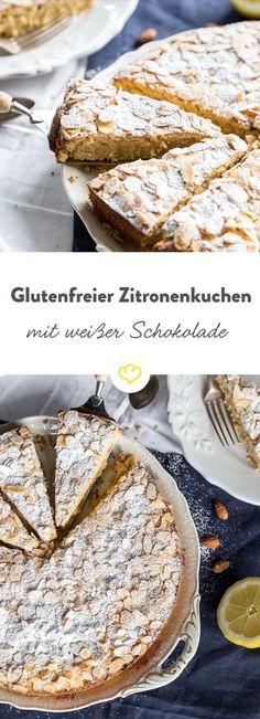
{"label": "white plate with fork and cake piece, top left corner", "polygon": [[0,57],[0,80],[50,73],[104,47],[134,12],[138,0],[96,0],[67,29],[34,50]]}

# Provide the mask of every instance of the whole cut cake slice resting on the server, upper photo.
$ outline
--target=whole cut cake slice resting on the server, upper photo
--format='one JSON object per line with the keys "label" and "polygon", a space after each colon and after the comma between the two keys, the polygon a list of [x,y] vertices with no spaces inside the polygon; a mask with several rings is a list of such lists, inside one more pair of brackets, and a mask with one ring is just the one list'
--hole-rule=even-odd
{"label": "whole cut cake slice resting on the server, upper photo", "polygon": [[58,162],[119,162],[161,157],[218,133],[210,120],[171,103],[76,80],[54,118],[51,147]]}

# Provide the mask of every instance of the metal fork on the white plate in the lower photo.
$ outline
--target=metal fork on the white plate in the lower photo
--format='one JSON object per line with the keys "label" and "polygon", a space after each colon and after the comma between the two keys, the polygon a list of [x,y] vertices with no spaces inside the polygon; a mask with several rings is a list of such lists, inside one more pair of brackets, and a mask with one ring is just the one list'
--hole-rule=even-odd
{"label": "metal fork on the white plate in the lower photo", "polygon": [[208,374],[208,389],[204,398],[210,422],[224,446],[230,446],[239,442],[236,427],[234,426],[226,406],[224,404],[220,390],[216,387],[214,379]]}

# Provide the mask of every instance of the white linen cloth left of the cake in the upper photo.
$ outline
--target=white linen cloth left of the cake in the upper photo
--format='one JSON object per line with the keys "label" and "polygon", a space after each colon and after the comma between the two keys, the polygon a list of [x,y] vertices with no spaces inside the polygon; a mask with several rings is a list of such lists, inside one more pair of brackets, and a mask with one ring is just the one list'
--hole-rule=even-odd
{"label": "white linen cloth left of the cake in the upper photo", "polygon": [[[85,68],[86,60],[73,61],[48,75],[0,81],[0,89],[54,109]],[[0,251],[71,252],[73,208],[59,176],[43,133],[22,117],[0,123]]]}

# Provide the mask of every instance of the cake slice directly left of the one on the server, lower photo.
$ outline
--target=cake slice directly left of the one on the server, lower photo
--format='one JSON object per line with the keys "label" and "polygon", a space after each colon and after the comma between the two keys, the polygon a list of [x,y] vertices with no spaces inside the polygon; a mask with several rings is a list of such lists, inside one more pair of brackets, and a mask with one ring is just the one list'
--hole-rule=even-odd
{"label": "cake slice directly left of the one on the server, lower photo", "polygon": [[56,537],[33,436],[26,427],[0,435],[0,489],[44,542]]}

